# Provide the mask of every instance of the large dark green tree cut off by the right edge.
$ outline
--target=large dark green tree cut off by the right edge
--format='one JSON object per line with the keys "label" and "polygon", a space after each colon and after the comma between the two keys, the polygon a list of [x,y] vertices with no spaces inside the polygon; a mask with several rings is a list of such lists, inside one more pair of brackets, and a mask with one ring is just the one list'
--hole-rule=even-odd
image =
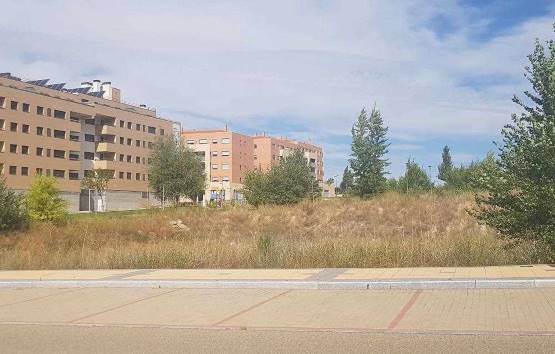
{"label": "large dark green tree cut off by the right edge", "polygon": [[[555,27],[554,27],[555,28]],[[544,240],[555,251],[555,41],[536,40],[525,77],[532,91],[523,112],[502,130],[499,157],[482,168],[473,212],[483,223],[517,238]],[[531,102],[531,103],[529,103]]]}

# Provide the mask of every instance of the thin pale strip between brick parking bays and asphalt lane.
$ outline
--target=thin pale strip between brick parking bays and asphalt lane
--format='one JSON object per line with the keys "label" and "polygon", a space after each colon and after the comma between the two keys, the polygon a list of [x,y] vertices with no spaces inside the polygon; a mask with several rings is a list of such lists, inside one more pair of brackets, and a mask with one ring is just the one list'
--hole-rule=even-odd
{"label": "thin pale strip between brick parking bays and asphalt lane", "polygon": [[171,325],[147,323],[68,323],[68,322],[27,322],[0,321],[1,326],[55,326],[55,327],[99,327],[99,328],[157,328],[183,330],[210,331],[267,331],[267,332],[335,332],[335,333],[373,333],[385,335],[429,335],[429,336],[498,336],[498,337],[555,337],[555,331],[482,331],[482,330],[418,330],[357,327],[262,327],[262,326],[201,326],[201,325]]}

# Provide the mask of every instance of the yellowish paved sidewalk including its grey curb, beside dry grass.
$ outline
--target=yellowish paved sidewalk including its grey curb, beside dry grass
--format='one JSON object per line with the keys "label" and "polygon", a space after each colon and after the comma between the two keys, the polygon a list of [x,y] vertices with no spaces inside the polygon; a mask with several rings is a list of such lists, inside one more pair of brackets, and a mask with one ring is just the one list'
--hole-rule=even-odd
{"label": "yellowish paved sidewalk including its grey curb, beside dry grass", "polygon": [[555,265],[437,268],[0,271],[0,288],[445,289],[555,287]]}

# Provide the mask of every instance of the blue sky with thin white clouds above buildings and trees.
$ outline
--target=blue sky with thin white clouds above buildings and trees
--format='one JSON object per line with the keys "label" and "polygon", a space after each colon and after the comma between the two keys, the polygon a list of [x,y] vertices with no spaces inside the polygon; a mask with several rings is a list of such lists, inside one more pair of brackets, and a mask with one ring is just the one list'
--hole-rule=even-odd
{"label": "blue sky with thin white clouds above buildings and trees", "polygon": [[444,145],[455,164],[495,151],[534,40],[554,36],[555,1],[3,0],[2,12],[0,72],[111,81],[184,129],[311,141],[327,178],[375,105],[395,177],[408,158],[437,175]]}

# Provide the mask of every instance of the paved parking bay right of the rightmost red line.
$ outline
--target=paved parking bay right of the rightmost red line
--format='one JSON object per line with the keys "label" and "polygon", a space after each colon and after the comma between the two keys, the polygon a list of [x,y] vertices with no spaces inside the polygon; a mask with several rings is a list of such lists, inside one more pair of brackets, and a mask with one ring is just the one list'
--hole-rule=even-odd
{"label": "paved parking bay right of the rightmost red line", "polygon": [[397,328],[555,332],[555,289],[424,291]]}

